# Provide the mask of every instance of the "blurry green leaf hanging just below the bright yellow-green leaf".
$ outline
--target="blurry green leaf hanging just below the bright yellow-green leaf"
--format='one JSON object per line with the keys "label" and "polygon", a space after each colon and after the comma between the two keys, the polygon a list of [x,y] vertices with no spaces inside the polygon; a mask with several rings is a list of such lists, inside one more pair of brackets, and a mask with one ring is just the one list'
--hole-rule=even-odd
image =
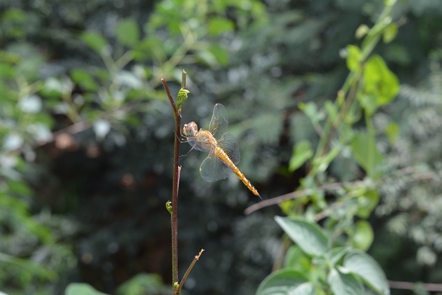
{"label": "blurry green leaf hanging just below the bright yellow-green leaf", "polygon": [[379,167],[383,164],[383,155],[376,148],[375,140],[368,133],[357,133],[350,146],[354,158],[372,178],[376,178]]}

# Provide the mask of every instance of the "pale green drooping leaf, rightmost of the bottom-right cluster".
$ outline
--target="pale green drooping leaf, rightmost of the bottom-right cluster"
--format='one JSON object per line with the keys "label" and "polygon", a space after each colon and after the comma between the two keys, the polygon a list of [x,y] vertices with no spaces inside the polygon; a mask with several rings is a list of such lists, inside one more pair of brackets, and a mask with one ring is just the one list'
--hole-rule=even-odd
{"label": "pale green drooping leaf, rightmost of the bottom-right cluster", "polygon": [[344,258],[343,269],[359,276],[368,287],[378,294],[390,294],[387,278],[381,267],[363,251],[350,251]]}

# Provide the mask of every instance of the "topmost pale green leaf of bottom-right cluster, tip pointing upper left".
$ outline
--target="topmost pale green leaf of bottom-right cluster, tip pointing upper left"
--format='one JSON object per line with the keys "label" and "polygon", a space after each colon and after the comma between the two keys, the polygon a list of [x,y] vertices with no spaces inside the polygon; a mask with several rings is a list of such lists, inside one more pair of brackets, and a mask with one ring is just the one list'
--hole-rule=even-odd
{"label": "topmost pale green leaf of bottom-right cluster, tip pointing upper left", "polygon": [[291,240],[310,256],[319,256],[327,251],[329,239],[316,223],[280,216],[276,216],[275,220]]}

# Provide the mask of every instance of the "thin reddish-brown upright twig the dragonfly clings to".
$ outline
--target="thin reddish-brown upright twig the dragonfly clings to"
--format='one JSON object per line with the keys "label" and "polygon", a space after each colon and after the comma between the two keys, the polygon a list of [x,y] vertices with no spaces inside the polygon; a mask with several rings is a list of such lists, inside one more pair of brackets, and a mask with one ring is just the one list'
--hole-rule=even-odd
{"label": "thin reddish-brown upright twig the dragonfly clings to", "polygon": [[[177,110],[175,102],[166,80],[163,78],[161,82],[166,91],[169,102],[173,108],[173,117],[175,117],[175,141],[173,142],[173,182],[172,182],[172,214],[171,214],[171,233],[172,233],[172,284],[173,294],[176,292],[175,285],[178,284],[178,187],[180,181],[180,166],[178,160],[180,158],[180,137],[181,137],[181,113]],[[176,283],[176,284],[175,284]]]}

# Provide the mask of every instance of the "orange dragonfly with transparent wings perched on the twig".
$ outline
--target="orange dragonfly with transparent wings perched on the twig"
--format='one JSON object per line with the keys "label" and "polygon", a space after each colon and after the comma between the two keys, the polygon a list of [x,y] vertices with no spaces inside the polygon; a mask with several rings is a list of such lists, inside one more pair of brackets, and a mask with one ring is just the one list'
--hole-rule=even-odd
{"label": "orange dragonfly with transparent wings perched on the twig", "polygon": [[200,166],[203,180],[214,182],[225,179],[229,176],[229,171],[232,171],[255,196],[261,198],[255,187],[236,166],[240,162],[240,146],[236,138],[227,133],[227,129],[229,129],[229,122],[227,122],[226,109],[222,104],[215,104],[209,131],[198,130],[198,125],[190,122],[184,124],[182,136],[186,142],[189,142],[192,149],[209,152]]}

